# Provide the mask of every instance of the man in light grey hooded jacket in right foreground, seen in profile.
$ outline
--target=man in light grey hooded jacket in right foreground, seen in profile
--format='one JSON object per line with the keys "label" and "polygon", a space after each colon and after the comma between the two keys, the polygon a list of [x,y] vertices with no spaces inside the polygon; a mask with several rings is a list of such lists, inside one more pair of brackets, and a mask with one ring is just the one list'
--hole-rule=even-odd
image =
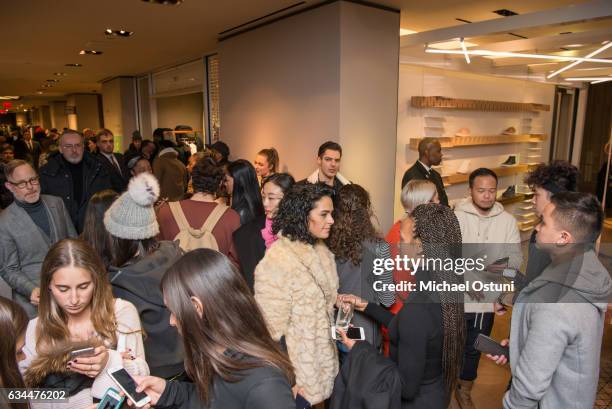
{"label": "man in light grey hooded jacket in right foreground, seen in profile", "polygon": [[513,378],[503,407],[592,409],[612,294],[610,274],[593,250],[603,222],[601,204],[591,194],[561,192],[552,196],[542,217],[537,245],[552,262],[514,304]]}

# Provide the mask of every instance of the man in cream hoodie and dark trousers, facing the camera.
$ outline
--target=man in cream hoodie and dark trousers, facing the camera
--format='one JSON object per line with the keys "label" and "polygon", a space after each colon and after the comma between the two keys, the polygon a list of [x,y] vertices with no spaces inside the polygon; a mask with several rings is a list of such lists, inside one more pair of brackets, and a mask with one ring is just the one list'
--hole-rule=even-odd
{"label": "man in cream hoodie and dark trousers, facing the camera", "polygon": [[[466,272],[466,281],[499,282],[507,268],[518,270],[523,261],[521,236],[516,219],[496,201],[497,175],[491,169],[479,168],[469,176],[470,197],[457,203],[455,215],[461,228],[464,257],[486,261],[483,271]],[[463,366],[456,397],[462,409],[473,409],[471,390],[478,376],[480,352],[474,348],[479,334],[491,335],[496,304],[495,292],[468,292],[465,297],[467,334]]]}

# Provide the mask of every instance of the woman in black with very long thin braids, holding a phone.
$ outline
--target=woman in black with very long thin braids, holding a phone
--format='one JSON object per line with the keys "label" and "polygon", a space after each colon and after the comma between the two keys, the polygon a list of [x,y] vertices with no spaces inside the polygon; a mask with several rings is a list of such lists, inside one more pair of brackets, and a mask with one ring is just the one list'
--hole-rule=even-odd
{"label": "woman in black with very long thin braids, holding a phone", "polygon": [[[461,257],[461,230],[452,210],[438,204],[425,204],[414,209],[411,217],[414,218],[414,238],[404,243],[415,247],[424,260]],[[419,270],[416,281],[417,291],[395,316],[354,295],[338,298],[354,303],[356,310],[389,328],[389,357],[396,363],[401,378],[402,409],[446,409],[463,358],[463,293],[423,291],[419,283],[461,284],[463,277],[453,271]],[[355,341],[344,333],[341,335],[342,342],[351,349]]]}

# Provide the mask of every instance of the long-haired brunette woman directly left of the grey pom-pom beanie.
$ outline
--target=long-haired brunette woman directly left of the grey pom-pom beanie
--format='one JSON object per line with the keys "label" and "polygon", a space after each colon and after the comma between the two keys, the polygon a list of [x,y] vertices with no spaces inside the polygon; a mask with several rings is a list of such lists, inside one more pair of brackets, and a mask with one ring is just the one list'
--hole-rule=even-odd
{"label": "long-haired brunette woman directly left of the grey pom-pom beanie", "polygon": [[119,197],[112,189],[101,190],[89,199],[85,211],[85,222],[81,239],[85,240],[102,258],[104,267],[108,269],[111,264],[109,236],[104,228],[104,213]]}

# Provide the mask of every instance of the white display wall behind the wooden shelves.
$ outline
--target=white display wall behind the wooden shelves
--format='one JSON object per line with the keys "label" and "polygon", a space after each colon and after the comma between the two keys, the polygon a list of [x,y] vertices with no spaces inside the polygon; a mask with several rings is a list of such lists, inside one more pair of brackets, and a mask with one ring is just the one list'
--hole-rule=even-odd
{"label": "white display wall behind the wooden shelves", "polygon": [[[443,109],[420,109],[410,106],[412,96],[445,96],[451,98],[482,99],[507,102],[534,102],[548,104],[549,112],[480,112]],[[542,144],[542,158],[548,161],[550,130],[554,101],[554,85],[499,78],[458,71],[425,68],[401,64],[399,70],[399,101],[397,121],[397,146],[395,167],[395,218],[402,214],[399,201],[401,179],[418,159],[415,150],[407,149],[410,138],[423,136],[453,136],[461,128],[469,128],[471,135],[498,135],[513,126],[517,133],[548,134]],[[434,119],[432,117],[442,117]],[[529,120],[530,119],[530,120]],[[442,125],[442,130],[426,128]],[[531,124],[531,128],[528,127]],[[509,154],[519,155],[520,162],[527,162],[527,144],[485,145],[443,150],[446,159],[442,162],[443,173],[456,172],[465,159],[471,160],[470,170],[478,167],[499,167]],[[539,161],[529,159],[529,161]],[[512,184],[522,184],[523,175],[500,179],[500,190]],[[467,184],[447,188],[449,199],[458,199],[467,194]]]}

